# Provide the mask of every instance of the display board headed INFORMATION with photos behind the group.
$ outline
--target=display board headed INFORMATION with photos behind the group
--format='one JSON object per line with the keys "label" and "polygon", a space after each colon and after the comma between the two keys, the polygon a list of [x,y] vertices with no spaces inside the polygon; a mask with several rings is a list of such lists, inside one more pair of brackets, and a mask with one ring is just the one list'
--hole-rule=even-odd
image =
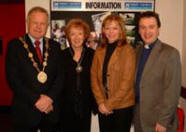
{"label": "display board headed INFORMATION with photos behind the group", "polygon": [[[51,37],[68,47],[64,28],[72,18],[85,20],[91,29],[90,40],[99,44],[101,24],[110,14],[119,14],[125,21],[128,42],[135,46],[139,41],[137,18],[140,12],[154,11],[155,0],[51,0]],[[89,42],[89,41],[88,41]],[[87,42],[87,46],[90,46]]]}

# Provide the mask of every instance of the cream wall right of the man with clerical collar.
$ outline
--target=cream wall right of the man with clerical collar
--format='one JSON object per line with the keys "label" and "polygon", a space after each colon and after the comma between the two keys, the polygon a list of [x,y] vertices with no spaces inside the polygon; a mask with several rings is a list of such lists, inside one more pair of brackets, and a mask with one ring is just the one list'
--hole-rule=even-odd
{"label": "cream wall right of the man with clerical collar", "polygon": [[160,39],[177,48],[182,57],[183,46],[183,1],[156,0],[156,12],[160,14],[162,27]]}

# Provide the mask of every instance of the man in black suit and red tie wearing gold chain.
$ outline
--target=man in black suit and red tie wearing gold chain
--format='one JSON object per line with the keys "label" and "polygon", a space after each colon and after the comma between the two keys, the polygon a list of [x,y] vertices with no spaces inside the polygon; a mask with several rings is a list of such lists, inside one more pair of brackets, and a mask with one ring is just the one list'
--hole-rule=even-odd
{"label": "man in black suit and red tie wearing gold chain", "polygon": [[28,12],[28,33],[8,43],[6,74],[13,91],[12,122],[16,132],[54,132],[63,83],[60,45],[45,36],[48,13]]}

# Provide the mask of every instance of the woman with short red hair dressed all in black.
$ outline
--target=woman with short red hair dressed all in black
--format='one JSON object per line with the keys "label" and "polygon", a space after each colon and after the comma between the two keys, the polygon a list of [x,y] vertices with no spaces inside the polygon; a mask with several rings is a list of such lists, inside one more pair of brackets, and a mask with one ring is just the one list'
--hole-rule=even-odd
{"label": "woman with short red hair dressed all in black", "polygon": [[94,52],[85,47],[89,26],[81,19],[72,19],[65,33],[70,47],[62,51],[65,81],[61,96],[61,131],[89,132],[93,102],[90,67]]}

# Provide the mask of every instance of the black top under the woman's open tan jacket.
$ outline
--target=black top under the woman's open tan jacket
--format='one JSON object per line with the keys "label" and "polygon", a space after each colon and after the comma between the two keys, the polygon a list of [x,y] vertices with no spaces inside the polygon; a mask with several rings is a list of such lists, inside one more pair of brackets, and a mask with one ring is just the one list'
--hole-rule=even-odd
{"label": "black top under the woman's open tan jacket", "polygon": [[106,97],[108,97],[108,93],[107,93],[107,67],[108,67],[108,63],[109,63],[109,60],[112,56],[112,53],[114,52],[114,49],[116,48],[117,46],[117,42],[114,42],[114,43],[110,43],[110,44],[107,44],[107,50],[106,50],[106,54],[105,54],[105,58],[104,58],[104,62],[103,62],[103,86],[104,86],[104,90],[105,90],[105,95]]}

